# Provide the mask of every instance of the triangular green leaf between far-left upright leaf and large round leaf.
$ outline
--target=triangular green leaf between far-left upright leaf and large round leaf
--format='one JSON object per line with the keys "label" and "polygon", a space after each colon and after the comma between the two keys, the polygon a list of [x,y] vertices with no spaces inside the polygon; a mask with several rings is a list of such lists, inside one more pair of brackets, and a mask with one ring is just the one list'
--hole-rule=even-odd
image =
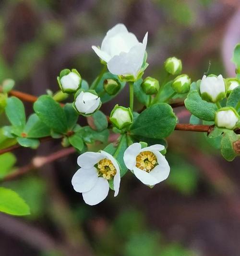
{"label": "triangular green leaf between far-left upright leaf and large round leaf", "polygon": [[50,135],[50,128],[36,114],[29,116],[23,131],[27,138],[42,138]]}

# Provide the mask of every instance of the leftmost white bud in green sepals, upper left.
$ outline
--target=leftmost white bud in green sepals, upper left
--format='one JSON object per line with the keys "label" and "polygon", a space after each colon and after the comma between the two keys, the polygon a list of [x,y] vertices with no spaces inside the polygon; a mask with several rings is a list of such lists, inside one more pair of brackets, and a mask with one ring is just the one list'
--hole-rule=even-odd
{"label": "leftmost white bud in green sepals, upper left", "polygon": [[76,69],[63,69],[60,72],[60,76],[57,77],[60,89],[66,93],[74,93],[80,87],[82,83],[82,77]]}

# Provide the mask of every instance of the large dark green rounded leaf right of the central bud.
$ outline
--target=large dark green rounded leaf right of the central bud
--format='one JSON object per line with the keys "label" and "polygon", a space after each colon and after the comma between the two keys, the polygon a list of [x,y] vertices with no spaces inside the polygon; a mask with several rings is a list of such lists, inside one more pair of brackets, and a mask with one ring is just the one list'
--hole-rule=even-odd
{"label": "large dark green rounded leaf right of the central bud", "polygon": [[177,117],[167,103],[157,103],[145,109],[133,122],[131,135],[162,139],[174,130]]}

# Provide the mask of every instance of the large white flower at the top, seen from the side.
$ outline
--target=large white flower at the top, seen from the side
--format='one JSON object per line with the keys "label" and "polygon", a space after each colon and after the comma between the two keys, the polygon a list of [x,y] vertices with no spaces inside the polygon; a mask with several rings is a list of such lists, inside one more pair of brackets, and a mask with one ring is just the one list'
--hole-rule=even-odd
{"label": "large white flower at the top, seen from the side", "polygon": [[147,33],[143,43],[128,32],[123,24],[117,24],[102,41],[101,49],[92,46],[96,54],[108,64],[108,70],[114,75],[133,75],[137,77],[144,60]]}

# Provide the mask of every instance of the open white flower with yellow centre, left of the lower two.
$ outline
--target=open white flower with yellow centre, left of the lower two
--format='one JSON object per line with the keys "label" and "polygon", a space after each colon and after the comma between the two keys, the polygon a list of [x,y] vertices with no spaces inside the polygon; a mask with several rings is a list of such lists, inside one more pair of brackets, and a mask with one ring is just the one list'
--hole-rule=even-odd
{"label": "open white flower with yellow centre, left of the lower two", "polygon": [[114,196],[119,193],[120,169],[116,159],[105,151],[86,152],[77,159],[81,167],[72,177],[72,186],[83,194],[88,205],[97,205],[108,195],[110,179],[113,179]]}

